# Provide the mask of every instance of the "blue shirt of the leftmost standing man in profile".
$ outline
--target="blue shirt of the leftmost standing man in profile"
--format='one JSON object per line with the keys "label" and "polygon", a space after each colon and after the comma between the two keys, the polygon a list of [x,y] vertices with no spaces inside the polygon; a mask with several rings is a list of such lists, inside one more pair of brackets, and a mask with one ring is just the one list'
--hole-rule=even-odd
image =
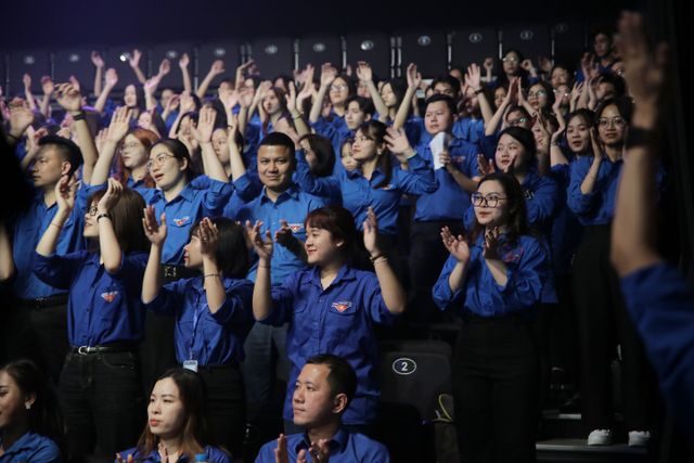
{"label": "blue shirt of the leftmost standing man in profile", "polygon": [[[55,252],[65,255],[85,248],[82,230],[85,229],[85,211],[89,196],[103,189],[104,185],[90,187],[81,184],[77,190],[75,208],[67,221],[63,224]],[[43,201],[43,193],[37,192],[31,205],[24,210],[14,223],[13,257],[16,267],[16,278],[14,281],[14,294],[22,299],[36,299],[39,297],[50,297],[64,294],[65,291],[46,284],[31,271],[30,256],[39,244],[41,236],[55,218],[57,203],[47,206]]]}

